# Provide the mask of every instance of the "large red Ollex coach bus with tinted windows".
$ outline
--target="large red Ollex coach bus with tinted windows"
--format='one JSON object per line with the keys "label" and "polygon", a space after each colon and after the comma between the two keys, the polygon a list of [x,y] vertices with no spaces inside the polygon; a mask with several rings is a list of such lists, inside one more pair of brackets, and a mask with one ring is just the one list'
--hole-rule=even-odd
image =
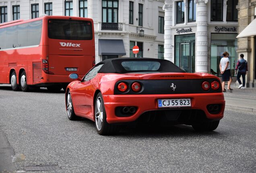
{"label": "large red Ollex coach bus with tinted windows", "polygon": [[0,84],[60,90],[95,65],[93,20],[43,16],[0,24]]}

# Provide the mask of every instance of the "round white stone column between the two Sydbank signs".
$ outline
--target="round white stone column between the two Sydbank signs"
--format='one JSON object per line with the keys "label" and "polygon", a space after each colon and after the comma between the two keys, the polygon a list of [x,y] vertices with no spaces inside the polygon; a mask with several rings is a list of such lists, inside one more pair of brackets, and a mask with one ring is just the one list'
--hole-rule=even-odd
{"label": "round white stone column between the two Sydbank signs", "polygon": [[196,3],[196,72],[208,72],[208,0],[195,0]]}

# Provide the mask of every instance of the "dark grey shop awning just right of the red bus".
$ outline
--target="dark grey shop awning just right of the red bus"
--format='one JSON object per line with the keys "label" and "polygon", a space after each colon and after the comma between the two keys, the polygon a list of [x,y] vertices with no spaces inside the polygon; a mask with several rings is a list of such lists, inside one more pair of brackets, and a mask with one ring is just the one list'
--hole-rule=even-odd
{"label": "dark grey shop awning just right of the red bus", "polygon": [[126,55],[123,40],[99,39],[99,55]]}

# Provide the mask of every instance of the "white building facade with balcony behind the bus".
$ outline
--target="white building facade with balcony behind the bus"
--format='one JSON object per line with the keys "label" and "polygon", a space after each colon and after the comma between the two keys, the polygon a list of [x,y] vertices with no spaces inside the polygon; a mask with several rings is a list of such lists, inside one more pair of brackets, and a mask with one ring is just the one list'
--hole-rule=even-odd
{"label": "white building facade with balcony behind the bus", "polygon": [[41,14],[92,18],[96,63],[115,57],[163,58],[164,0],[0,0],[0,22]]}

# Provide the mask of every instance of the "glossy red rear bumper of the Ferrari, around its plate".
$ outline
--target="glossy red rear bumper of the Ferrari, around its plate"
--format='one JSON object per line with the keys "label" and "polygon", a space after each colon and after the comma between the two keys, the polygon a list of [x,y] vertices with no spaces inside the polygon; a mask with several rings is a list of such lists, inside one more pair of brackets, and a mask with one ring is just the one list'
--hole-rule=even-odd
{"label": "glossy red rear bumper of the Ferrari, around its plate", "polygon": [[[207,94],[179,94],[179,95],[103,95],[105,111],[108,123],[122,123],[136,121],[143,113],[147,111],[163,110],[158,108],[157,99],[181,99],[190,98],[192,106],[179,109],[200,109],[204,111],[207,119],[222,119],[225,109],[225,100],[223,93]],[[207,105],[219,104],[221,109],[217,114],[211,114],[207,110]],[[116,116],[116,107],[134,106],[137,111],[130,117]],[[170,108],[168,108],[170,109]],[[170,115],[171,116],[171,115]]]}

